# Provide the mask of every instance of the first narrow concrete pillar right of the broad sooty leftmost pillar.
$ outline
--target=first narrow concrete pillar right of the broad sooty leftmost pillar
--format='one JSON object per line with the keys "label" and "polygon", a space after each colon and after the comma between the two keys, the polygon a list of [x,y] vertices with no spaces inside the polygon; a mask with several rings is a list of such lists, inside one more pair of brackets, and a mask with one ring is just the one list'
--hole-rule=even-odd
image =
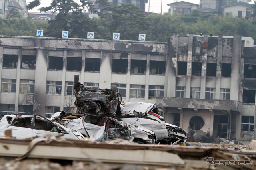
{"label": "first narrow concrete pillar right of the broad sooty leftmost pillar", "polygon": [[[62,67],[62,83],[61,83],[61,98],[60,98],[60,110],[64,110],[64,106],[66,106],[66,101],[64,101],[65,97],[65,79],[66,79],[66,69],[67,69],[67,50],[63,51],[63,67]],[[65,102],[65,104],[64,104]]]}

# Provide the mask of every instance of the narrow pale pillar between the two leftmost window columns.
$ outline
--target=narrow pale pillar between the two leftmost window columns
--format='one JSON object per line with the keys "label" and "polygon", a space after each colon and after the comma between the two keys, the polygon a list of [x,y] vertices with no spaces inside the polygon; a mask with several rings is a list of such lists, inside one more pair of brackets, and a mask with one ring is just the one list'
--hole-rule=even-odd
{"label": "narrow pale pillar between the two leftmost window columns", "polygon": [[16,93],[15,93],[15,113],[18,114],[19,93],[20,93],[20,66],[21,66],[21,48],[18,49],[18,63],[16,75]]}

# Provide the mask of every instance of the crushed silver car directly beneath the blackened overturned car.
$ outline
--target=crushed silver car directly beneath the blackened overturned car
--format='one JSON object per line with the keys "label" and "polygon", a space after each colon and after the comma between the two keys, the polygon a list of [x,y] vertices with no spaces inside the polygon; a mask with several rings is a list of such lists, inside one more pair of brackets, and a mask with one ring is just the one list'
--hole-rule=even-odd
{"label": "crushed silver car directly beneath the blackened overturned car", "polygon": [[52,118],[62,125],[77,130],[84,136],[93,137],[96,141],[126,139],[143,144],[154,144],[154,132],[136,127],[112,116],[72,115],[56,112]]}

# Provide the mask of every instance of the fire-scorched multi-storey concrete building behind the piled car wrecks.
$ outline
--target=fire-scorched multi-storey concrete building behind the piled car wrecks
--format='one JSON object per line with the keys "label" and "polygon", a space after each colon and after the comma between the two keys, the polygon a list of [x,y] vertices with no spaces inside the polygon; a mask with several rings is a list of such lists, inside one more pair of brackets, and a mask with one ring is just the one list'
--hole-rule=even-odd
{"label": "fire-scorched multi-storey concrete building behind the piled car wrecks", "polygon": [[74,106],[74,75],[123,101],[155,103],[190,141],[250,140],[256,57],[239,35],[168,42],[0,36],[0,113],[50,117]]}

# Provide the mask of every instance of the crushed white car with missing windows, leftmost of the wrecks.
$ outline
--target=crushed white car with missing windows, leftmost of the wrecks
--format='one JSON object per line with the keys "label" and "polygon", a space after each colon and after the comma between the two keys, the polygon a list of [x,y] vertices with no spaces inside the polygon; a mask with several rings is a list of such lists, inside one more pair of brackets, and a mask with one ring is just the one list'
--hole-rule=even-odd
{"label": "crushed white car with missing windows, leftmost of the wrecks", "polygon": [[59,135],[64,139],[84,140],[80,132],[40,115],[4,115],[0,120],[0,136],[5,136],[4,132],[8,129],[17,139]]}

